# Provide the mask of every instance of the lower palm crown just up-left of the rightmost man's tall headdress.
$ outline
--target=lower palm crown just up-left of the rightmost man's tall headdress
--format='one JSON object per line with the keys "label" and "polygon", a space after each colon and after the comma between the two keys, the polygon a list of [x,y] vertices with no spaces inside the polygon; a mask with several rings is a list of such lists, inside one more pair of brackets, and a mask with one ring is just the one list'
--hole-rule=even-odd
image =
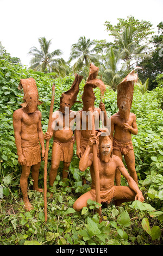
{"label": "lower palm crown just up-left of the rightmost man's tall headdress", "polygon": [[120,50],[110,47],[102,58],[102,64],[99,66],[99,75],[102,76],[103,82],[113,90],[117,89],[122,77],[126,75],[120,60]]}

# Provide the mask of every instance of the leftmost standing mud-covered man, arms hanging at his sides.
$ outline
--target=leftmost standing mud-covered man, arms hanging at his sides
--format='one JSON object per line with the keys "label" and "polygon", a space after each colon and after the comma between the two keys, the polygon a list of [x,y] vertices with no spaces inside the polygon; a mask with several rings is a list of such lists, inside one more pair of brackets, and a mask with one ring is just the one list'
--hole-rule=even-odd
{"label": "leftmost standing mud-covered man, arms hanging at his sides", "polygon": [[35,80],[33,78],[21,79],[18,89],[22,88],[24,102],[21,104],[22,108],[17,109],[13,114],[13,126],[18,162],[22,166],[20,186],[24,207],[27,211],[30,211],[33,206],[30,204],[27,194],[28,176],[32,167],[33,188],[36,191],[43,192],[43,189],[38,187],[38,179],[41,165],[41,148],[42,160],[44,160],[45,145],[41,127],[41,112],[37,109],[37,105],[42,102],[39,101]]}

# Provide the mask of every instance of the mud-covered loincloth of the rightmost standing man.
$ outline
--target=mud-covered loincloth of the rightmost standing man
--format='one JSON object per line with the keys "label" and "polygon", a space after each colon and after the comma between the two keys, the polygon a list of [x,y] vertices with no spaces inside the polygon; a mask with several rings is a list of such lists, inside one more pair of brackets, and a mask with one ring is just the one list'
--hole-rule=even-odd
{"label": "mud-covered loincloth of the rightmost standing man", "polygon": [[133,143],[131,141],[123,143],[113,138],[112,147],[114,150],[120,151],[122,155],[126,155],[129,150],[133,150]]}

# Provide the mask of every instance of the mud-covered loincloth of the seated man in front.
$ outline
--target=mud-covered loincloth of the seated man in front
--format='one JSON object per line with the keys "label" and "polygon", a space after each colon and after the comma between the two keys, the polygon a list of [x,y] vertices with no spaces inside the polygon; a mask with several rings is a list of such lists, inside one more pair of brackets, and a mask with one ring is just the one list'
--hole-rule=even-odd
{"label": "mud-covered loincloth of the seated man in front", "polygon": [[[101,203],[107,202],[109,204],[113,198],[114,190],[115,190],[115,186],[110,188],[110,190],[101,190],[100,191]],[[89,192],[91,193],[92,198],[96,198],[96,190],[91,189]]]}

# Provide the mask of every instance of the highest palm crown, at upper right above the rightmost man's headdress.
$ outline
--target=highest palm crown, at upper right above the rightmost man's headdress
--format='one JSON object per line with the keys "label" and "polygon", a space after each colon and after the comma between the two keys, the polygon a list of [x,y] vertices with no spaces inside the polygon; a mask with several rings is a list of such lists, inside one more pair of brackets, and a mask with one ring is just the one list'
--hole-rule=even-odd
{"label": "highest palm crown, at upper right above the rightmost man's headdress", "polygon": [[112,34],[118,39],[118,47],[121,50],[121,58],[126,63],[128,71],[130,70],[131,66],[137,63],[138,59],[149,58],[149,55],[143,52],[146,45],[139,45],[134,40],[135,33],[136,30],[132,26],[129,26],[128,28],[124,27],[122,33],[117,31],[112,32]]}

